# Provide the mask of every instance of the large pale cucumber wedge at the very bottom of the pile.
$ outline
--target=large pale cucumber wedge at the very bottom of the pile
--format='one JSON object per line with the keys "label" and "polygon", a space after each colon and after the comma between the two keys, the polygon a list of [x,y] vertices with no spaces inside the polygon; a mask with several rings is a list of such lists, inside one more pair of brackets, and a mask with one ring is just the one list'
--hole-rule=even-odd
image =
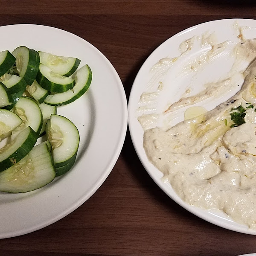
{"label": "large pale cucumber wedge at the very bottom of the pile", "polygon": [[54,178],[51,154],[47,144],[41,143],[20,162],[0,172],[0,191],[24,193],[47,185]]}

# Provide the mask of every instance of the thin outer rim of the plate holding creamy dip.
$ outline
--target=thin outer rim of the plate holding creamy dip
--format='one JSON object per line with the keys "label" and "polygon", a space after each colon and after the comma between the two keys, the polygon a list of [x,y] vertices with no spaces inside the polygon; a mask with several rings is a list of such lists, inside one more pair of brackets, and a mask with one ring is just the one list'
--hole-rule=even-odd
{"label": "thin outer rim of the plate holding creamy dip", "polygon": [[[237,223],[236,221],[233,221],[235,222],[237,225],[241,226],[241,227],[230,227],[230,225],[228,225],[227,223],[219,223],[218,221],[215,221],[214,218],[210,218],[209,216],[205,216],[204,215],[204,212],[209,212],[207,209],[201,209],[199,207],[194,207],[186,202],[184,202],[178,195],[177,193],[175,192],[175,194],[177,195],[177,198],[174,198],[170,195],[170,192],[169,190],[163,186],[163,182],[160,181],[160,180],[157,180],[154,175],[153,175],[153,172],[151,172],[147,166],[146,166],[146,163],[144,163],[143,161],[143,157],[140,155],[140,148],[137,146],[136,144],[136,140],[134,138],[134,133],[133,133],[133,128],[132,128],[132,122],[134,119],[134,115],[133,113],[131,113],[133,110],[132,110],[132,106],[130,104],[130,102],[132,101],[132,98],[134,97],[134,84],[136,83],[136,81],[138,80],[139,78],[139,75],[140,75],[140,72],[141,70],[143,70],[144,66],[146,66],[147,62],[149,61],[149,58],[151,57],[151,55],[155,54],[155,52],[157,52],[160,48],[162,48],[165,44],[168,44],[168,41],[171,40],[172,38],[176,38],[186,32],[189,32],[189,31],[192,31],[194,29],[197,29],[198,27],[201,27],[201,26],[205,26],[209,23],[214,23],[214,22],[221,22],[221,21],[227,21],[229,20],[230,22],[231,21],[251,21],[251,22],[256,22],[256,19],[246,19],[246,18],[227,18],[227,19],[216,19],[216,20],[210,20],[210,21],[207,21],[207,22],[203,22],[203,23],[198,23],[194,26],[191,26],[191,27],[188,27],[186,29],[183,29],[182,31],[176,33],[175,35],[172,35],[171,37],[167,38],[165,41],[163,41],[163,43],[161,43],[158,47],[156,47],[149,55],[148,57],[146,58],[146,60],[143,62],[142,66],[140,67],[140,70],[138,71],[135,79],[134,79],[134,82],[133,82],[133,85],[131,87],[131,92],[130,92],[130,96],[129,96],[129,99],[128,99],[128,128],[129,128],[129,132],[130,132],[130,136],[131,136],[131,140],[132,140],[132,143],[134,145],[134,149],[136,151],[136,154],[137,156],[139,157],[140,159],[140,162],[142,163],[144,169],[146,170],[146,172],[148,173],[148,175],[152,178],[152,180],[154,180],[154,182],[157,184],[157,186],[159,186],[160,189],[163,190],[163,192],[166,193],[166,195],[169,196],[169,198],[171,198],[173,201],[175,201],[175,203],[179,204],[181,207],[183,207],[184,209],[186,209],[187,211],[191,212],[192,214],[196,215],[197,217],[203,219],[204,221],[207,221],[209,223],[212,223],[218,227],[223,227],[227,230],[231,230],[231,231],[236,231],[236,232],[239,232],[239,233],[245,233],[245,234],[250,234],[250,235],[256,235],[256,230],[250,230],[247,226],[245,225],[242,225],[242,224],[239,224]],[[144,132],[143,132],[144,134]],[[144,150],[144,148],[143,148]],[[149,160],[147,160],[148,163]],[[152,163],[150,163],[152,164]],[[171,185],[169,185],[171,186]],[[172,186],[171,186],[172,187]],[[210,212],[209,212],[210,213]],[[218,216],[218,218],[221,218],[220,216]]]}

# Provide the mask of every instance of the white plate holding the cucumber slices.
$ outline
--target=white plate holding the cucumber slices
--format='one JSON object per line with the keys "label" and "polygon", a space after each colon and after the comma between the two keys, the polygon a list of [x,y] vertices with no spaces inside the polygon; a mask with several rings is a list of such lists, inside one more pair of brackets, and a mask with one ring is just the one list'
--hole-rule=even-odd
{"label": "white plate holding the cucumber slices", "polygon": [[89,64],[93,80],[87,93],[57,113],[71,119],[80,133],[73,169],[47,186],[24,194],[0,193],[0,238],[26,234],[63,218],[101,186],[124,143],[127,102],[122,82],[108,59],[82,38],[48,26],[0,27],[0,51],[24,45]]}

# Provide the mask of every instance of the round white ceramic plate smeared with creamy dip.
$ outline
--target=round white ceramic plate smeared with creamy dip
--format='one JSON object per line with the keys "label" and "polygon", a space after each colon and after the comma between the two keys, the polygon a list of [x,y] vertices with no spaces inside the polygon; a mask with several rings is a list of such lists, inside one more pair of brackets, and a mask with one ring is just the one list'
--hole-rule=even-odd
{"label": "round white ceramic plate smeared with creamy dip", "polygon": [[[241,33],[244,38],[256,38],[256,20],[228,19],[202,23],[174,35],[161,44],[145,61],[134,81],[128,105],[128,123],[131,138],[140,161],[143,163],[148,174],[167,195],[182,207],[206,221],[241,233],[256,234],[256,230],[250,230],[244,225],[237,224],[228,218],[227,215],[224,215],[224,213],[199,209],[182,201],[176,195],[170,184],[164,183],[163,180],[161,180],[163,174],[148,161],[143,148],[143,128],[137,119],[137,117],[142,114],[163,113],[166,105],[178,101],[184,93],[189,93],[190,91],[197,93],[203,90],[206,82],[218,81],[218,79],[224,76],[232,67],[233,59],[230,57],[231,55],[228,54],[230,52],[228,52],[228,50],[220,52],[219,54],[215,52],[216,54],[211,59],[204,58],[206,56],[204,54],[211,50],[210,44],[212,41],[216,41],[217,44],[229,41],[228,46],[230,46],[239,42],[240,39],[238,36]],[[205,44],[207,41],[208,44]],[[206,47],[198,47],[199,44],[201,46],[205,44],[204,46]],[[191,47],[191,49],[188,46]],[[182,58],[177,58],[176,62],[175,57],[180,56],[181,52],[184,51],[184,47],[188,47],[186,49],[189,50],[182,55]],[[197,56],[199,56],[198,58],[200,58],[201,62],[195,63],[198,64],[198,66],[194,66],[193,72],[190,72],[191,70],[186,69],[186,65],[189,64],[189,67],[192,69],[193,58]],[[173,58],[172,64],[174,65],[170,68],[167,63],[162,71],[158,72],[157,69],[160,67],[159,61],[163,58]],[[201,68],[201,64],[204,61],[209,61],[207,68]],[[160,65],[163,64],[164,61]],[[159,90],[157,92],[157,86],[159,86],[161,81],[163,81],[163,90],[165,90],[166,87],[168,89],[165,93],[161,93],[161,96],[157,96],[159,92]],[[221,102],[229,99],[239,89],[240,87],[236,86],[234,90],[224,92],[218,97],[205,99],[197,105],[203,106],[209,111]],[[144,97],[144,102],[142,102],[140,96],[143,92],[154,93],[151,94],[150,99]],[[148,104],[150,108],[145,104]],[[175,125],[177,122],[183,121],[185,110],[186,108],[181,108],[173,112],[169,122]],[[149,123],[149,126],[150,125],[151,123]],[[157,124],[155,126],[159,125]]]}

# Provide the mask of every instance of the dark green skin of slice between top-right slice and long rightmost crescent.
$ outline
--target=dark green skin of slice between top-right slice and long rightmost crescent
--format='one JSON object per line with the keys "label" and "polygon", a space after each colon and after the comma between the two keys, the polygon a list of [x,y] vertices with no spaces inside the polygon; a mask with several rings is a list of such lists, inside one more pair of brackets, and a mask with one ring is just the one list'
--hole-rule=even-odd
{"label": "dark green skin of slice between top-right slice and long rightmost crescent", "polygon": [[40,70],[38,70],[38,74],[35,80],[42,88],[53,93],[64,93],[67,90],[72,89],[75,84],[75,80],[70,84],[55,84],[44,77]]}

